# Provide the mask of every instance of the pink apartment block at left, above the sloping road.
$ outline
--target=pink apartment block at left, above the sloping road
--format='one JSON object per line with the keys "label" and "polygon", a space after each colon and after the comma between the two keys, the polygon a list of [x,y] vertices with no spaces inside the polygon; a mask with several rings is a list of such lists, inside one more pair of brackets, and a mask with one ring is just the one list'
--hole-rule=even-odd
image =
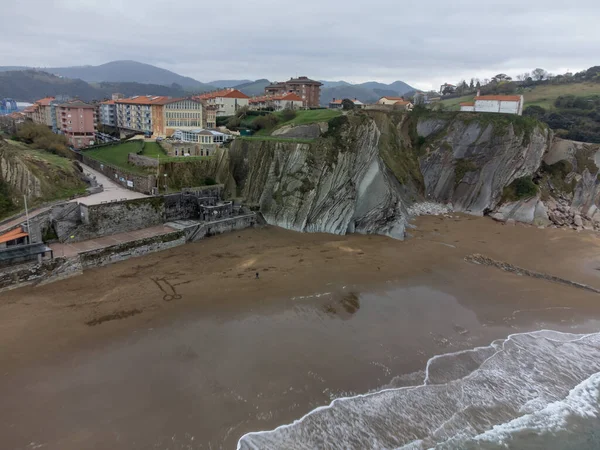
{"label": "pink apartment block at left, above the sloping road", "polygon": [[96,107],[80,100],[62,103],[56,107],[60,132],[74,148],[94,145],[96,140]]}

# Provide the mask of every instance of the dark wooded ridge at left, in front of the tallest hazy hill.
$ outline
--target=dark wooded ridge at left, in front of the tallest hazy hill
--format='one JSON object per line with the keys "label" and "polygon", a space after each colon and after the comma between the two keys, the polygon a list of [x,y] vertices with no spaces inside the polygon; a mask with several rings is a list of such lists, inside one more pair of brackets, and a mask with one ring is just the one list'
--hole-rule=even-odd
{"label": "dark wooded ridge at left, in front of the tallest hazy hill", "polygon": [[82,80],[61,78],[38,70],[0,71],[0,98],[11,97],[21,102],[34,102],[43,97],[61,94],[79,97],[85,101],[102,100],[110,97],[113,92],[120,92],[126,96],[154,94],[184,97],[188,95],[188,92],[181,87],[117,82],[91,85]]}

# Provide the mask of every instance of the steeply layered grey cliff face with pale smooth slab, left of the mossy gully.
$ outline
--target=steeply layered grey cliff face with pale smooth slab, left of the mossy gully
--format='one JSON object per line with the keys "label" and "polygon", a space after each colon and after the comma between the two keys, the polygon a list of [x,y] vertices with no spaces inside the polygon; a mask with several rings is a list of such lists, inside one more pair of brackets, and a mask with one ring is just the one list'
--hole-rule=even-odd
{"label": "steeply layered grey cliff face with pale smooth slab, left of the mossy gully", "polygon": [[380,137],[375,121],[361,116],[311,144],[236,141],[232,174],[269,224],[403,238],[406,200],[379,156]]}

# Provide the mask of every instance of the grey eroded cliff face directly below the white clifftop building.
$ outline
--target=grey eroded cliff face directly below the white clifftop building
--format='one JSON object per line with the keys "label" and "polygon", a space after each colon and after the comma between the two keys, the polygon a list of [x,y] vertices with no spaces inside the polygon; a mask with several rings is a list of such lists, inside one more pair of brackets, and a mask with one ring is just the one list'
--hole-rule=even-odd
{"label": "grey eroded cliff face directly below the white clifftop building", "polygon": [[493,210],[515,179],[533,175],[551,139],[542,126],[515,130],[513,123],[476,116],[456,116],[445,125],[425,120],[417,132],[433,136],[420,158],[427,198],[475,215]]}

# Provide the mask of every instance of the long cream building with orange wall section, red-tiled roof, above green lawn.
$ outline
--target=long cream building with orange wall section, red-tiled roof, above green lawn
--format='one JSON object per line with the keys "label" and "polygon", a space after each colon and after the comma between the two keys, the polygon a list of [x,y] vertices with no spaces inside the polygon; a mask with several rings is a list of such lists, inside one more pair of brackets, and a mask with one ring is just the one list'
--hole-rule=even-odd
{"label": "long cream building with orange wall section, red-tiled roof, above green lawn", "polygon": [[114,101],[119,128],[166,137],[203,125],[203,107],[191,98],[142,95]]}

